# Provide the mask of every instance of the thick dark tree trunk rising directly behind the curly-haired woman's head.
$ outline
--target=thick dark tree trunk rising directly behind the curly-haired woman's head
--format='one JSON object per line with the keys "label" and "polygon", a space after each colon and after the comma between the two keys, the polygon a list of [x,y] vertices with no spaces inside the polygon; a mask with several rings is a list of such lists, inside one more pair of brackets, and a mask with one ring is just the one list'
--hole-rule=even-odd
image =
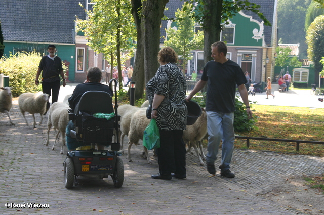
{"label": "thick dark tree trunk rising directly behind the curly-haired woman's head", "polygon": [[145,83],[154,76],[159,67],[157,54],[160,45],[160,26],[168,2],[169,0],[147,0],[143,2]]}

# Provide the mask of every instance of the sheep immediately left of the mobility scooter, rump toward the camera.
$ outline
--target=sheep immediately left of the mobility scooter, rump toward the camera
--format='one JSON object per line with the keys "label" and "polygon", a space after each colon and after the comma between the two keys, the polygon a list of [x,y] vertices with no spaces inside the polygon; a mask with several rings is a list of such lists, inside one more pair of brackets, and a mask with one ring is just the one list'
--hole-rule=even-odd
{"label": "sheep immediately left of the mobility scooter, rump toward the camera", "polygon": [[65,130],[67,123],[69,122],[68,110],[69,106],[64,102],[55,102],[49,109],[49,117],[47,120],[47,140],[46,146],[49,144],[49,133],[51,127],[53,125],[54,130],[58,130],[58,133],[55,136],[55,141],[52,147],[54,150],[56,140],[58,139],[59,134],[62,135],[62,146],[61,146],[61,154],[64,153],[63,146],[65,145]]}

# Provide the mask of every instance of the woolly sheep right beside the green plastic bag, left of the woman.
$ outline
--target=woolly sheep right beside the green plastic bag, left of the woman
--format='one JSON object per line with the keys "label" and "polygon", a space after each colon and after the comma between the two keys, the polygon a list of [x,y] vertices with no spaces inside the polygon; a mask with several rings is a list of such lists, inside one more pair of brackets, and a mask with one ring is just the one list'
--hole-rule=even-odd
{"label": "woolly sheep right beside the green plastic bag, left of the woman", "polygon": [[[126,114],[124,115],[124,117]],[[133,144],[138,145],[138,141],[143,140],[144,130],[147,125],[150,123],[150,120],[146,118],[146,108],[141,108],[131,117],[130,130],[128,133],[128,154],[127,159],[129,162],[133,162],[131,158],[131,147]],[[144,148],[145,156],[149,164],[152,164],[150,157],[148,156],[148,151],[146,147]]]}

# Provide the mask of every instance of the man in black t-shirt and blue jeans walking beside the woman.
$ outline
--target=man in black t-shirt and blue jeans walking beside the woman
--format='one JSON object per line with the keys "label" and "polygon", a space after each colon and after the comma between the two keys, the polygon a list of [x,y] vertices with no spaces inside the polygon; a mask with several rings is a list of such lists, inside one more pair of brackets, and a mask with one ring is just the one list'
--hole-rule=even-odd
{"label": "man in black t-shirt and blue jeans walking beside the woman", "polygon": [[220,141],[222,140],[221,176],[234,178],[235,174],[229,170],[234,149],[234,110],[235,91],[238,86],[241,98],[246,105],[249,118],[252,111],[249,106],[248,92],[245,87],[246,77],[240,66],[227,59],[227,47],[224,42],[215,42],[211,46],[212,58],[204,67],[203,75],[186,101],[189,101],[196,93],[203,89],[207,83],[207,130],[208,153],[206,156],[207,170],[215,174],[215,161]]}

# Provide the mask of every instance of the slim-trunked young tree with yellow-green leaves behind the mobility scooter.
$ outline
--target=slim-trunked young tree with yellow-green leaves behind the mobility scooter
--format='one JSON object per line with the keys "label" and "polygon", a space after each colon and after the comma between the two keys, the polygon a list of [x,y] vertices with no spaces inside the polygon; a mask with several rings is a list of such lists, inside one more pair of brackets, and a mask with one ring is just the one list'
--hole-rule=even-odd
{"label": "slim-trunked young tree with yellow-green leaves behind the mobility scooter", "polygon": [[89,18],[77,19],[77,30],[85,32],[88,45],[95,52],[103,53],[106,58],[111,55],[112,59],[117,58],[119,89],[121,89],[123,87],[121,61],[130,58],[134,50],[132,41],[136,37],[131,3],[127,0],[93,0],[92,3],[94,3],[93,11],[87,11]]}

